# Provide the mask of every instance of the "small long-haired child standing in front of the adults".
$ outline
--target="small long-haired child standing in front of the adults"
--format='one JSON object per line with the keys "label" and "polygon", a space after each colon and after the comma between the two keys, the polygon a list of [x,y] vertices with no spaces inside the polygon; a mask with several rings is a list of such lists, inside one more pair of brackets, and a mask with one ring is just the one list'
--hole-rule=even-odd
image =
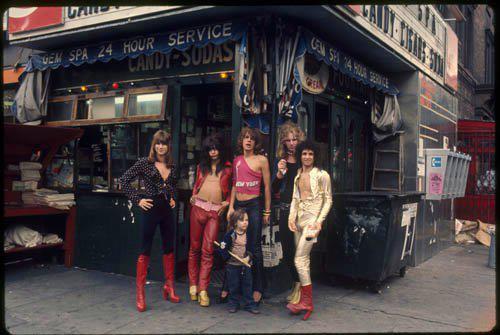
{"label": "small long-haired child standing in front of the adults", "polygon": [[244,309],[252,314],[259,314],[257,304],[252,297],[252,270],[229,254],[229,251],[251,265],[250,253],[247,252],[248,215],[239,208],[229,217],[229,230],[220,244],[220,254],[227,262],[226,277],[229,286],[229,313],[236,313],[239,308],[238,295],[243,295]]}

